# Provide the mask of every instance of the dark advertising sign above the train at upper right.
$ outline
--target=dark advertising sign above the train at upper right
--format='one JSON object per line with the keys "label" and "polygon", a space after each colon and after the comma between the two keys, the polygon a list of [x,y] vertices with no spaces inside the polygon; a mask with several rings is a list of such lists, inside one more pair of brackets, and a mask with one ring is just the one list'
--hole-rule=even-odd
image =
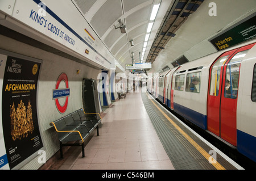
{"label": "dark advertising sign above the train at upper right", "polygon": [[209,41],[219,51],[240,44],[243,41],[254,39],[255,37],[256,13],[234,24],[234,26],[222,32],[221,35],[217,35]]}

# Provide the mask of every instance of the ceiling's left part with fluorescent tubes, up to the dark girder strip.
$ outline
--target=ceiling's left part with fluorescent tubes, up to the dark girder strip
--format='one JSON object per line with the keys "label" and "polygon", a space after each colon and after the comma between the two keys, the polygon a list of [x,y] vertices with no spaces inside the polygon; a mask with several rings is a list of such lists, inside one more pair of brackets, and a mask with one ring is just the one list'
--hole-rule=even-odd
{"label": "ceiling's left part with fluorescent tubes, up to the dark girder strip", "polygon": [[[176,31],[203,1],[73,0],[123,68],[125,64],[145,62],[150,54],[152,56],[149,61],[153,62],[159,49],[163,49],[163,45],[173,36],[172,32]],[[154,5],[159,5],[159,10],[156,18],[151,20]],[[149,23],[154,24],[147,41],[146,51],[143,53]],[[125,33],[118,28],[121,24],[125,26]],[[158,39],[155,39],[156,37]],[[133,40],[133,46],[131,46],[131,40]],[[153,43],[157,45],[151,49]]]}

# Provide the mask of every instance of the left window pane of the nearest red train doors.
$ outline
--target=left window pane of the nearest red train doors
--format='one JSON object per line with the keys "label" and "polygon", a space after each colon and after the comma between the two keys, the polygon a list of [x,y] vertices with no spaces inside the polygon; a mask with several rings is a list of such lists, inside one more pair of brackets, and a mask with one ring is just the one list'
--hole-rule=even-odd
{"label": "left window pane of the nearest red train doors", "polygon": [[212,66],[212,72],[210,74],[210,95],[218,96],[220,89],[220,73],[221,65],[225,64],[228,56],[220,57]]}

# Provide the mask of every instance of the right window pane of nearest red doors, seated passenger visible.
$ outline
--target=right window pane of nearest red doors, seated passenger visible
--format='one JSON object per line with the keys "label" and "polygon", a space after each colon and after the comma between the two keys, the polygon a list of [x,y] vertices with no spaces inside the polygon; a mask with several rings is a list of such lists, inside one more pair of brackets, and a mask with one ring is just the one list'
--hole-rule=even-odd
{"label": "right window pane of nearest red doors, seated passenger visible", "polygon": [[226,67],[225,98],[237,98],[240,64],[248,51],[249,49],[235,54]]}

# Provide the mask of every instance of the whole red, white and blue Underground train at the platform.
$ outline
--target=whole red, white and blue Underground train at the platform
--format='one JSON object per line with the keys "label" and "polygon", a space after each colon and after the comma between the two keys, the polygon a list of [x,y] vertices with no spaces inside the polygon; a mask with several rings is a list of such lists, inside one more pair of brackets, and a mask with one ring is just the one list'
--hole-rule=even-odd
{"label": "whole red, white and blue Underground train at the platform", "polygon": [[256,162],[256,40],[147,79],[165,107]]}

